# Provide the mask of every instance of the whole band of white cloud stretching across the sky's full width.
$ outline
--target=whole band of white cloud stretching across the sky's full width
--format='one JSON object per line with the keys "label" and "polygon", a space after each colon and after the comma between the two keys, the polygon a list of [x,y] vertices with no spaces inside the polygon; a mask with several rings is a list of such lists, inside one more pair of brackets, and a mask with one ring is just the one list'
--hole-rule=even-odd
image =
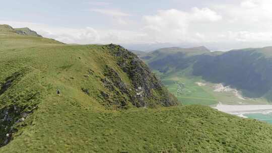
{"label": "whole band of white cloud stretching across the sky's full width", "polygon": [[[172,43],[213,44],[219,49],[272,45],[272,1],[239,0],[238,4],[193,7],[188,11],[169,9],[137,15],[114,9],[91,9],[109,17],[113,26],[104,29],[52,27],[38,23],[8,22],[14,27],[29,27],[45,37],[65,43]],[[108,20],[108,18],[103,18]],[[101,19],[102,20],[102,19]],[[131,22],[131,20],[133,20]],[[97,21],[99,22],[99,21]],[[114,28],[112,28],[114,27]],[[125,29],[125,30],[124,30]],[[222,45],[223,44],[223,45]],[[224,45],[225,44],[225,45]],[[230,45],[226,45],[230,44]],[[232,45],[235,44],[235,45]],[[241,44],[241,45],[240,45]]]}

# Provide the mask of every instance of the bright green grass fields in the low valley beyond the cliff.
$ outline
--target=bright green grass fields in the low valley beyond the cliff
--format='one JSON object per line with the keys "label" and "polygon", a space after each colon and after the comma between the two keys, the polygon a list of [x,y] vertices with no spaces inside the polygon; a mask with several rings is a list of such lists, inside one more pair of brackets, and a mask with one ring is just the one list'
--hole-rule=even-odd
{"label": "bright green grass fields in the low valley beyond the cliff", "polygon": [[[169,92],[175,95],[183,105],[215,105],[219,102],[223,104],[269,104],[264,98],[255,98],[241,100],[232,92],[214,92],[216,84],[206,82],[201,77],[195,77],[190,74],[190,68],[174,73],[161,73],[154,70],[156,75],[161,78]],[[206,86],[198,86],[196,82],[207,84]],[[178,85],[184,84],[182,92],[178,93]]]}

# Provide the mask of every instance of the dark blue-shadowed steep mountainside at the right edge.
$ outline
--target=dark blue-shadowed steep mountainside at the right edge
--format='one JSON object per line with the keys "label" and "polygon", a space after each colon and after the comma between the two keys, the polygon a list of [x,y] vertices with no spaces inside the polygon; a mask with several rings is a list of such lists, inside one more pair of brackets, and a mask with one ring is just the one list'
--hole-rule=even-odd
{"label": "dark blue-shadowed steep mountainside at the right edge", "polygon": [[[272,47],[233,50],[219,56],[202,56],[193,74],[212,82],[222,82],[243,91],[247,97],[272,100],[272,58],[264,51]],[[209,67],[209,69],[208,69]]]}

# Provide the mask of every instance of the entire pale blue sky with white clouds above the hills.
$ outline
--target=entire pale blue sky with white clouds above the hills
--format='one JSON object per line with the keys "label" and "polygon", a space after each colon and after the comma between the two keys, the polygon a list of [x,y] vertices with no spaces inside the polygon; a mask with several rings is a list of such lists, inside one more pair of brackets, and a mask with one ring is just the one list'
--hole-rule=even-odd
{"label": "entire pale blue sky with white clouds above the hills", "polygon": [[224,51],[272,46],[271,8],[270,0],[13,0],[1,2],[0,24],[64,43]]}

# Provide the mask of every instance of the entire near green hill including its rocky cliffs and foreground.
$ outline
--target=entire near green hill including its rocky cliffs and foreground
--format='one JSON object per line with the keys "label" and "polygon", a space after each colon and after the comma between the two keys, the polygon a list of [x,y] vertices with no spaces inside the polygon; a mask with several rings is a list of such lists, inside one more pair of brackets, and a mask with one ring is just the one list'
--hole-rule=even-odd
{"label": "entire near green hill including its rocky cliffs and foreground", "polygon": [[150,69],[118,45],[67,45],[3,29],[0,152],[272,149],[272,126],[176,106]]}

